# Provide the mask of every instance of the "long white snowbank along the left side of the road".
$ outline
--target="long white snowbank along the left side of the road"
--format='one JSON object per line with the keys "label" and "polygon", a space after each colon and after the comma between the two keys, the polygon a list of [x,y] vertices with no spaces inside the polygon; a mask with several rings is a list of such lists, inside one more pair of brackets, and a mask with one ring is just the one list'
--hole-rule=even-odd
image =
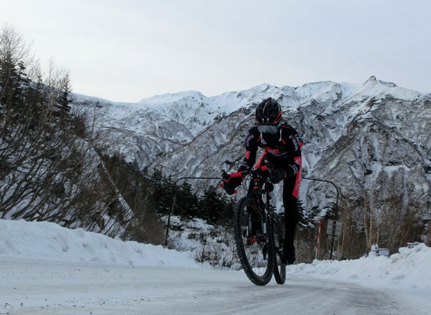
{"label": "long white snowbank along the left side of the road", "polygon": [[197,267],[193,255],[56,223],[0,219],[0,263]]}

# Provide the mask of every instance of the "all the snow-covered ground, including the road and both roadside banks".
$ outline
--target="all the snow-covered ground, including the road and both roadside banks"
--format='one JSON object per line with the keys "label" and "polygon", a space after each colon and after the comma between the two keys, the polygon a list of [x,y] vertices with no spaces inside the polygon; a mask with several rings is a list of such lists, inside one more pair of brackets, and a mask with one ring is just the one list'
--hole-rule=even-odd
{"label": "all the snow-covered ground, including the road and both roadside banks", "polygon": [[284,285],[257,287],[188,252],[0,220],[0,314],[431,314],[430,266],[421,244],[289,266]]}

